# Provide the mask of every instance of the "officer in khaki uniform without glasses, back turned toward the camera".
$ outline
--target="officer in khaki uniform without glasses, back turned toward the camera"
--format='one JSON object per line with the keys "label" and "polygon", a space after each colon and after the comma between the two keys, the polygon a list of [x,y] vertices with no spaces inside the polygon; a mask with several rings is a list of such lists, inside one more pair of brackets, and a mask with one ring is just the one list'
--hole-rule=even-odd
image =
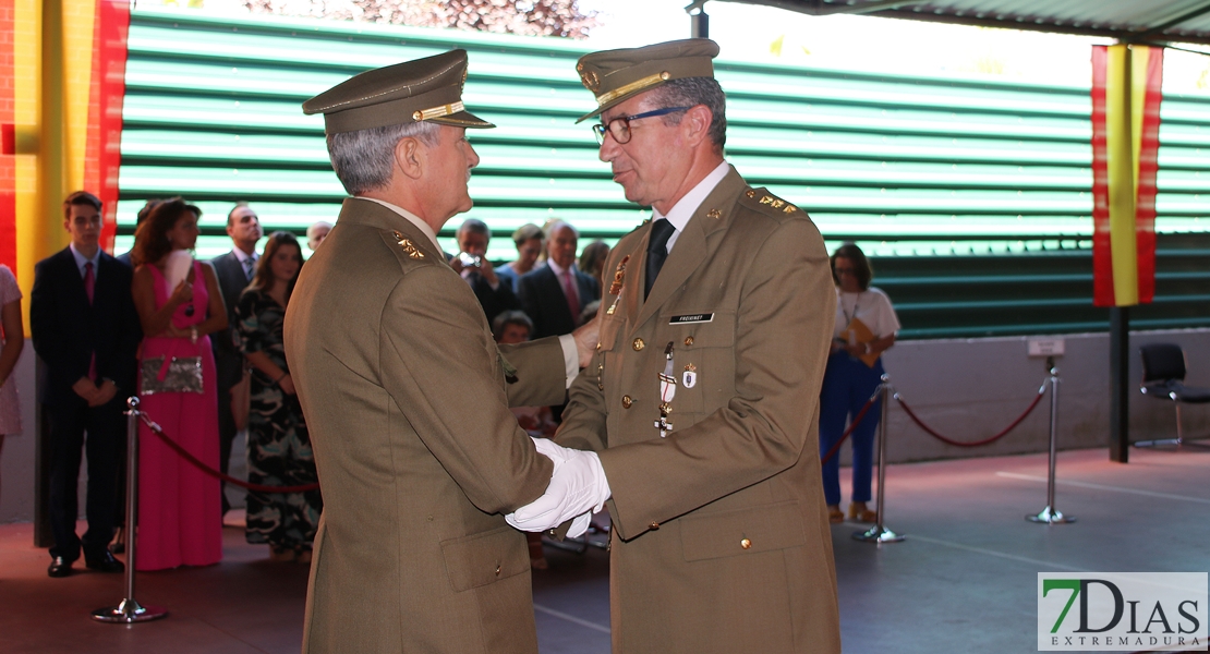
{"label": "officer in khaki uniform without glasses, back turned toward the camera", "polygon": [[466,66],[456,50],[304,104],[355,196],[286,316],[324,499],[304,652],[537,652],[525,537],[500,514],[552,464],[508,403],[560,404],[580,360],[569,337],[501,357],[437,244],[472,204],[465,131],[492,127],[462,106]]}

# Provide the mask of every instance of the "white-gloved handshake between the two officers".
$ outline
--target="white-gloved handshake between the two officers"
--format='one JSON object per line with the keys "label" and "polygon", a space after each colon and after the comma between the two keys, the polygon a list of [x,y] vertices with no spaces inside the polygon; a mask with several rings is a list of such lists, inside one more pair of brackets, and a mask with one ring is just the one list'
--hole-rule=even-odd
{"label": "white-gloved handshake between the two officers", "polygon": [[582,536],[592,514],[600,511],[611,494],[600,458],[597,452],[561,447],[546,439],[534,439],[534,446],[554,462],[551,484],[542,497],[505,520],[524,532],[544,532],[574,519],[567,536]]}

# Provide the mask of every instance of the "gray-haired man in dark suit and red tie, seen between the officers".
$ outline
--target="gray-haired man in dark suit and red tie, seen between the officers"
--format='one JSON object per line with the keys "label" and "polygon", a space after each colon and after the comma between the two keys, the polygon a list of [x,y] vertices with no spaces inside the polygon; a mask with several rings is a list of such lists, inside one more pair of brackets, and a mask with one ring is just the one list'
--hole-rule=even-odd
{"label": "gray-haired man in dark suit and red tie, seen between the officers", "polygon": [[576,268],[580,233],[558,220],[547,227],[547,265],[520,278],[522,311],[534,320],[534,337],[571,334],[584,306],[601,297],[600,284]]}

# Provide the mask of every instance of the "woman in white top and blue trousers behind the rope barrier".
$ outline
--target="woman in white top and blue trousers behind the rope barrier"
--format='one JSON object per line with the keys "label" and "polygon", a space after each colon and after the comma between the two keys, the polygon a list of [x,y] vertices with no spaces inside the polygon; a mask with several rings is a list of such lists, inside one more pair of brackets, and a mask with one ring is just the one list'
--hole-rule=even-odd
{"label": "woman in white top and blue trousers behind the rope barrier", "polygon": [[[874,271],[860,248],[852,243],[837,248],[831,256],[831,268],[836,282],[836,329],[819,393],[820,456],[826,456],[836,445],[845,434],[846,423],[857,417],[878,387],[883,372],[881,354],[894,345],[899,331],[899,318],[891,299],[870,285]],[[866,503],[870,502],[874,432],[880,412],[881,400],[865,412],[849,436],[853,441],[853,497],[848,516],[857,522],[877,519]],[[843,522],[839,452],[824,463],[823,478],[828,517],[834,523]]]}

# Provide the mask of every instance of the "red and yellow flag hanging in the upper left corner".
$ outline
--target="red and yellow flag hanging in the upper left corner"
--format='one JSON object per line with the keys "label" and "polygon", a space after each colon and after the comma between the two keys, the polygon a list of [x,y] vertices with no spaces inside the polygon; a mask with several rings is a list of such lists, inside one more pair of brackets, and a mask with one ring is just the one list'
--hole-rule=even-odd
{"label": "red and yellow flag hanging in the upper left corner", "polygon": [[0,0],[0,264],[27,296],[34,264],[68,242],[69,192],[104,201],[113,249],[129,5]]}

